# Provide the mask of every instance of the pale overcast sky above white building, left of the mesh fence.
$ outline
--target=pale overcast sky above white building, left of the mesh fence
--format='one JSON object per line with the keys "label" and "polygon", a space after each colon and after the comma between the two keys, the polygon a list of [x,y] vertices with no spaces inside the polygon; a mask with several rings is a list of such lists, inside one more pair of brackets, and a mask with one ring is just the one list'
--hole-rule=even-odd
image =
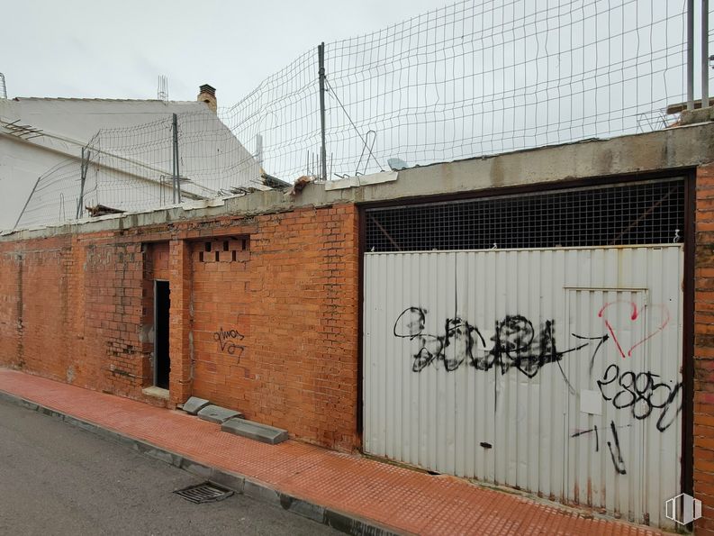
{"label": "pale overcast sky above white building, left of the mesh fence", "polygon": [[346,39],[445,0],[23,0],[3,3],[0,72],[9,97],[156,98],[198,86],[234,104],[321,41]]}

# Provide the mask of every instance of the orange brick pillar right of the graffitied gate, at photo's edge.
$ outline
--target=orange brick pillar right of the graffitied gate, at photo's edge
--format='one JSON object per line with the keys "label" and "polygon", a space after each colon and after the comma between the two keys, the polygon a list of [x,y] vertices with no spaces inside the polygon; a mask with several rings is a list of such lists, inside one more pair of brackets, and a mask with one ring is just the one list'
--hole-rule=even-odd
{"label": "orange brick pillar right of the graffitied gate, at photo's edge", "polygon": [[694,268],[694,496],[714,535],[714,165],[697,169]]}

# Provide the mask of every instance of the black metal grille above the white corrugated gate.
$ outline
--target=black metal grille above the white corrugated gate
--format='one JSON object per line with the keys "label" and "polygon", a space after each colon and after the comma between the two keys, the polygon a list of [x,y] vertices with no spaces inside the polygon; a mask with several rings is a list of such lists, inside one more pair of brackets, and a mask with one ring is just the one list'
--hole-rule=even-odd
{"label": "black metal grille above the white corrugated gate", "polygon": [[681,178],[366,210],[367,251],[491,250],[683,241]]}

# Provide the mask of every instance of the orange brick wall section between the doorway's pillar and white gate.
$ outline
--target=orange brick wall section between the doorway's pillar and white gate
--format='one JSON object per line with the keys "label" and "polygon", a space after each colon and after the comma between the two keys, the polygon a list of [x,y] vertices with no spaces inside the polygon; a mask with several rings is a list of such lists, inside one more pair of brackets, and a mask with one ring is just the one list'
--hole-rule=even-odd
{"label": "orange brick wall section between the doorway's pillar and white gate", "polygon": [[194,394],[349,450],[356,441],[357,214],[260,216],[194,242]]}

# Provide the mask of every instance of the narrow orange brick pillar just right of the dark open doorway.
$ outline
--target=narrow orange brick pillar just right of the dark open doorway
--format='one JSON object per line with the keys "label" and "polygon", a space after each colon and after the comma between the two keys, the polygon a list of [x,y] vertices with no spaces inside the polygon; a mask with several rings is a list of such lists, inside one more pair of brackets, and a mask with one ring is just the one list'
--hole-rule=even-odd
{"label": "narrow orange brick pillar just right of the dark open doorway", "polygon": [[171,374],[168,378],[169,403],[181,404],[191,396],[191,246],[186,241],[170,242],[168,345]]}

